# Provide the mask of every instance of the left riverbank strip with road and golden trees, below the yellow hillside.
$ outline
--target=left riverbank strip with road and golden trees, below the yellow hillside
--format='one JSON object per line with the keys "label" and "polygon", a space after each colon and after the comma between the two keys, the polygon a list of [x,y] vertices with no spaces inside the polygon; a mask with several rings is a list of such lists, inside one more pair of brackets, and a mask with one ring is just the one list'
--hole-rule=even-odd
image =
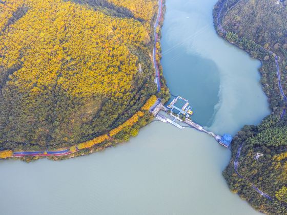
{"label": "left riverbank strip with road and golden trees, below the yellow hillside", "polygon": [[[155,68],[155,82],[157,84],[157,96],[163,101],[167,101],[170,97],[169,90],[166,85],[165,78],[162,74],[162,67],[160,66],[161,49],[160,49],[160,29],[163,25],[164,14],[166,8],[163,4],[163,0],[158,0],[158,12],[154,20],[154,42],[153,42],[153,64]],[[46,157],[51,160],[64,160],[77,156],[87,155],[93,152],[98,152],[107,147],[115,146],[117,143],[125,142],[130,139],[131,136],[136,136],[141,127],[149,124],[153,119],[153,116],[149,113],[150,106],[155,102],[156,97],[152,96],[146,104],[141,107],[141,111],[138,111],[130,119],[123,124],[114,128],[112,131],[105,135],[95,137],[83,143],[79,143],[71,146],[70,148],[55,149],[55,150],[36,150],[30,152],[13,152],[12,150],[0,151],[0,159],[22,159],[24,161],[37,160],[39,158]],[[142,112],[144,111],[144,112]],[[126,124],[126,125],[125,125]],[[129,129],[126,127],[129,126]]]}

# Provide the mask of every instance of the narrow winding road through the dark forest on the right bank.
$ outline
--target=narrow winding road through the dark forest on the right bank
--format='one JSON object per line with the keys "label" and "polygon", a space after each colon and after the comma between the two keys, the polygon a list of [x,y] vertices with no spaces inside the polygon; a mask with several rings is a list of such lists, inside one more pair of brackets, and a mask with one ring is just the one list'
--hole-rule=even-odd
{"label": "narrow winding road through the dark forest on the right bank", "polygon": [[[223,34],[226,34],[227,31],[226,31],[226,30],[222,27],[222,25],[221,25],[221,18],[222,18],[221,12],[222,12],[222,9],[223,9],[223,4],[224,4],[224,2],[225,2],[225,1],[222,1],[221,5],[220,5],[219,12],[218,12],[218,14],[217,14],[217,24],[218,24],[219,31],[220,31],[221,33],[223,33]],[[229,10],[232,9],[232,8],[233,8],[235,5],[237,5],[239,2],[241,2],[241,0],[239,0],[238,2],[236,2],[231,8],[229,8]],[[268,49],[265,49],[265,48],[262,47],[262,46],[260,46],[260,48],[261,48],[262,50],[264,50],[264,51],[267,51],[269,54],[273,55],[274,58],[275,58],[276,72],[277,72],[277,79],[278,79],[278,87],[279,87],[279,90],[280,90],[281,95],[283,96],[284,101],[287,103],[287,97],[285,96],[285,94],[284,94],[284,92],[283,92],[283,89],[282,89],[282,86],[281,86],[281,80],[280,80],[281,76],[280,76],[280,68],[279,68],[279,60],[278,60],[278,57],[277,57],[277,55],[276,55],[274,52],[272,52],[272,51],[270,51],[270,50],[268,50]],[[282,118],[282,117],[285,115],[285,112],[286,112],[286,110],[285,110],[285,108],[284,108],[280,118]],[[245,179],[245,180],[247,180],[248,182],[250,182],[251,185],[252,185],[252,187],[253,187],[261,196],[263,196],[264,198],[267,198],[267,199],[269,199],[269,200],[271,200],[271,201],[274,201],[274,199],[273,199],[272,197],[270,197],[267,193],[264,193],[264,192],[261,191],[258,187],[256,187],[256,186],[251,182],[251,180],[249,180],[248,178],[246,178],[246,177],[244,177],[244,176],[242,176],[242,175],[240,175],[240,174],[238,173],[238,164],[239,164],[239,161],[238,161],[238,160],[239,160],[239,157],[240,157],[240,153],[241,153],[242,146],[243,146],[243,143],[241,143],[240,146],[238,147],[237,154],[236,154],[236,158],[235,158],[235,160],[234,160],[234,170],[235,170],[235,173],[236,173],[237,176],[239,176],[240,178]],[[281,204],[282,206],[287,207],[287,205],[282,204],[282,203],[280,203],[280,202],[279,202],[279,204]]]}

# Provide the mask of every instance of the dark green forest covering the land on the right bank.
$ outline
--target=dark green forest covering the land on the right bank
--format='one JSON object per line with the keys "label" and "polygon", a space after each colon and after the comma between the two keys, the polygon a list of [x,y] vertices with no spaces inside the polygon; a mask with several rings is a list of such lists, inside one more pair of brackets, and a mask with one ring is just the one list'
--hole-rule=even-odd
{"label": "dark green forest covering the land on the right bank", "polygon": [[[220,23],[217,14],[222,6]],[[275,56],[278,56],[281,85],[287,95],[287,6],[285,1],[220,0],[214,8],[214,23],[220,36],[247,51],[262,65],[262,88],[268,96],[271,115],[258,125],[245,125],[232,142],[232,158],[224,170],[230,189],[257,210],[267,214],[287,214],[287,116],[286,100],[280,93]],[[238,177],[234,170],[239,145],[242,144]],[[259,157],[256,157],[259,155]],[[262,197],[255,184],[272,200]]]}

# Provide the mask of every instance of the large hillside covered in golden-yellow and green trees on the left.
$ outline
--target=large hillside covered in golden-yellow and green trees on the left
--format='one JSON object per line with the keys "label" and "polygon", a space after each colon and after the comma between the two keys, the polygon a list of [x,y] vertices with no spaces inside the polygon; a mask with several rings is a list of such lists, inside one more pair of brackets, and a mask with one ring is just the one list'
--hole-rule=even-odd
{"label": "large hillside covered in golden-yellow and green trees on the left", "polygon": [[0,150],[69,147],[136,114],[156,93],[156,11],[153,0],[0,1]]}

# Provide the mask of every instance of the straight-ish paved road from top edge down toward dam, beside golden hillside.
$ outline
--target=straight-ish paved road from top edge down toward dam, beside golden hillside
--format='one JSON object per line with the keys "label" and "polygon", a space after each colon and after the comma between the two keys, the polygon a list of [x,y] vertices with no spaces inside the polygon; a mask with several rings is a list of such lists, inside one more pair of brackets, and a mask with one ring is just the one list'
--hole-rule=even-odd
{"label": "straight-ish paved road from top edge down toward dam, beside golden hillside", "polygon": [[158,0],[158,12],[157,12],[156,21],[154,24],[154,46],[153,46],[153,65],[154,65],[154,69],[155,69],[155,80],[156,80],[156,85],[157,85],[157,92],[160,91],[160,75],[159,75],[158,65],[157,65],[157,62],[155,59],[156,42],[157,42],[157,38],[158,38],[158,34],[156,33],[156,28],[158,27],[161,13],[162,13],[162,0]]}

